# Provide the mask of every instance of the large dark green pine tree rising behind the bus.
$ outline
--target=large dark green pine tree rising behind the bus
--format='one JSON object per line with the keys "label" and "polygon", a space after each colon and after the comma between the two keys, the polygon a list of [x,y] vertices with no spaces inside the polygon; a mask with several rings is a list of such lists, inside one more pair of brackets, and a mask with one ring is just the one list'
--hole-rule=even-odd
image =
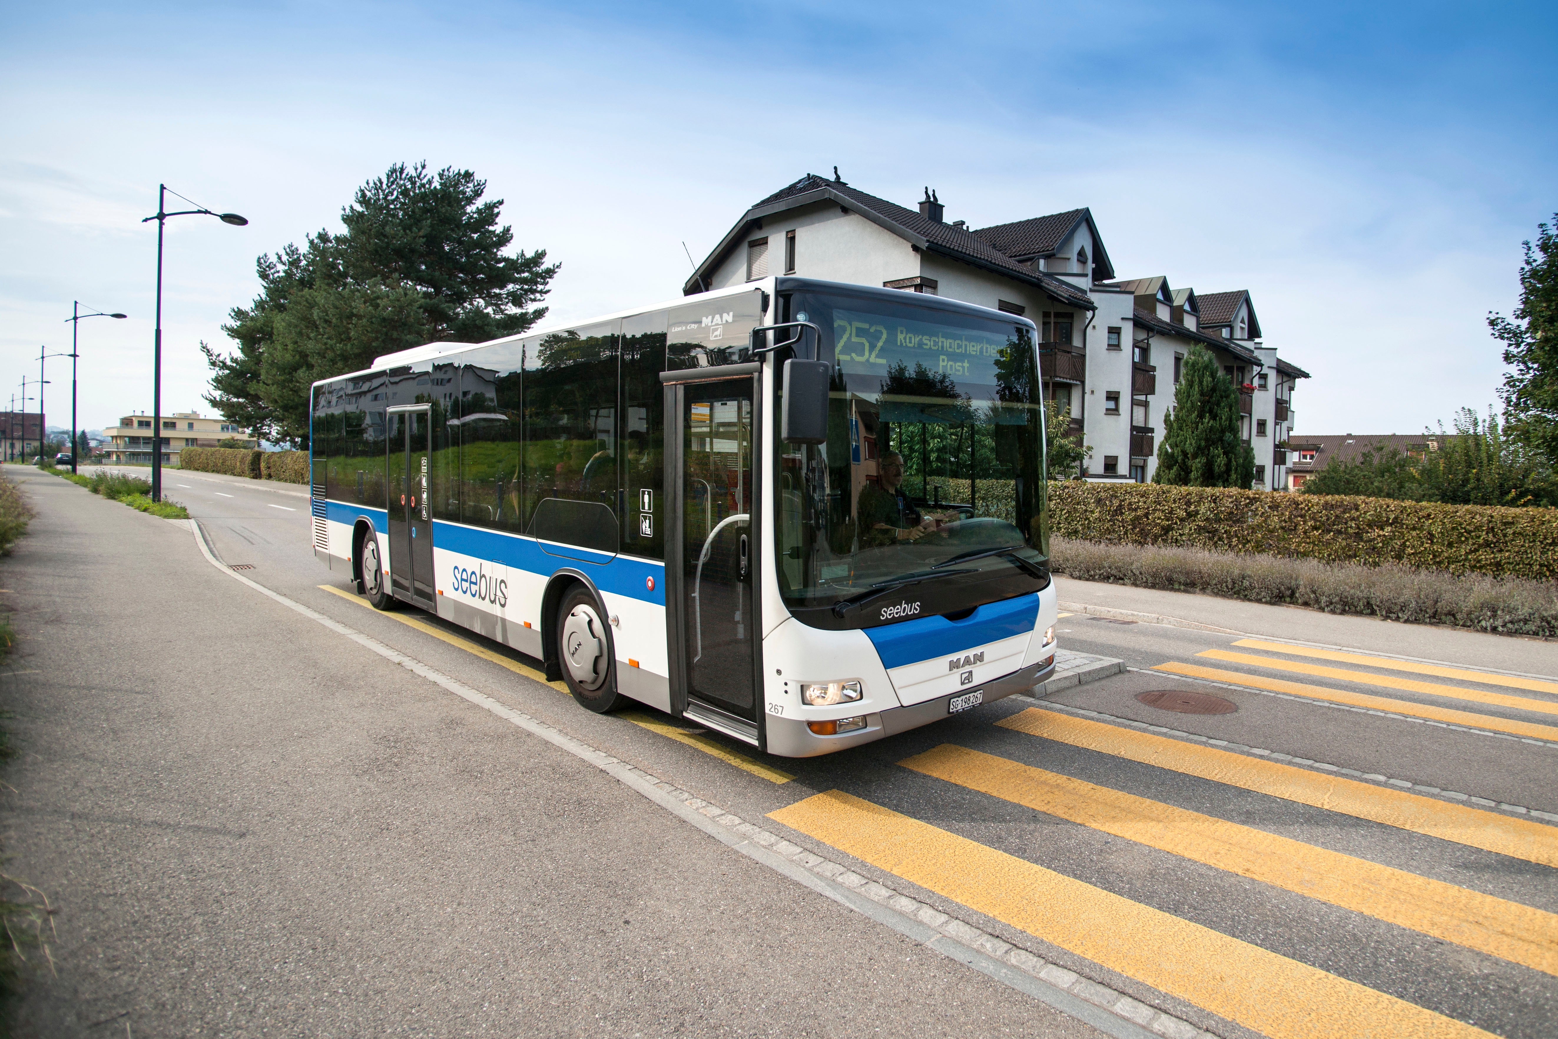
{"label": "large dark green pine tree rising behind the bus", "polygon": [[308,385],[421,343],[477,343],[530,329],[558,265],[544,249],[508,252],[503,199],[481,201],[469,170],[397,164],[357,188],[346,231],[308,235],[256,263],[260,294],[234,307],[206,397],[265,439],[308,442]]}

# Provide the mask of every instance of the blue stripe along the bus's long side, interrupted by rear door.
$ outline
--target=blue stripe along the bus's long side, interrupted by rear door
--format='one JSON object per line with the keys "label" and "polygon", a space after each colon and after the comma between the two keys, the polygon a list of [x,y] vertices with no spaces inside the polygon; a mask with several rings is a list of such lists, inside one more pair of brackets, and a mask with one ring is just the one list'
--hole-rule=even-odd
{"label": "blue stripe along the bus's long side, interrupted by rear door", "polygon": [[[365,505],[347,505],[344,502],[329,502],[329,519],[337,523],[354,523],[358,516],[366,516],[374,522],[380,534],[390,533],[390,512]],[[665,564],[654,559],[637,559],[634,556],[612,556],[611,553],[575,545],[556,545],[555,551],[542,548],[534,537],[508,534],[497,530],[481,530],[480,527],[464,527],[461,523],[446,523],[433,520],[433,545],[446,551],[458,551],[472,559],[488,559],[502,562],[516,570],[528,570],[550,576],[562,567],[584,564],[583,572],[589,575],[601,592],[636,598],[654,606],[665,606]],[[654,578],[654,589],[648,579]]]}

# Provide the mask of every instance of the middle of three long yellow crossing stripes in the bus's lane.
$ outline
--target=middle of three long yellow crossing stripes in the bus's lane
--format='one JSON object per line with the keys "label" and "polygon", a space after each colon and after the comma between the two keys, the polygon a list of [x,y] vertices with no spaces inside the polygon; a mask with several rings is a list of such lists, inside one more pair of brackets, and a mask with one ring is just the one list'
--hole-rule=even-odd
{"label": "middle of three long yellow crossing stripes in the bus's lane", "polygon": [[950,743],[905,768],[1558,975],[1558,914]]}

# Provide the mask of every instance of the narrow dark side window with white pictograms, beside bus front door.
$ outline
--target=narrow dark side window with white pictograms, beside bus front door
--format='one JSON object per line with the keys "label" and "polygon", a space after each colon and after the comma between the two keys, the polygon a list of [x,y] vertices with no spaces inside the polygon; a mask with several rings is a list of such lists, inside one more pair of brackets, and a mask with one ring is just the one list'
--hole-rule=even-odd
{"label": "narrow dark side window with white pictograms, beside bus front door", "polygon": [[622,551],[650,559],[665,558],[665,322],[664,310],[622,322]]}

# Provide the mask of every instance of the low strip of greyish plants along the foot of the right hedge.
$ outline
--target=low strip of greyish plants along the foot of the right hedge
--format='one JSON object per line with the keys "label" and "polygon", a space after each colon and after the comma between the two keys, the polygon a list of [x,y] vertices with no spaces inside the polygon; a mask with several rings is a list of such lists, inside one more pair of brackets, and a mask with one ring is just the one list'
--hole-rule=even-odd
{"label": "low strip of greyish plants along the foot of the right hedge", "polygon": [[1172,592],[1309,606],[1327,614],[1558,637],[1558,583],[1452,575],[1402,565],[1256,556],[1200,548],[1050,539],[1056,573]]}

